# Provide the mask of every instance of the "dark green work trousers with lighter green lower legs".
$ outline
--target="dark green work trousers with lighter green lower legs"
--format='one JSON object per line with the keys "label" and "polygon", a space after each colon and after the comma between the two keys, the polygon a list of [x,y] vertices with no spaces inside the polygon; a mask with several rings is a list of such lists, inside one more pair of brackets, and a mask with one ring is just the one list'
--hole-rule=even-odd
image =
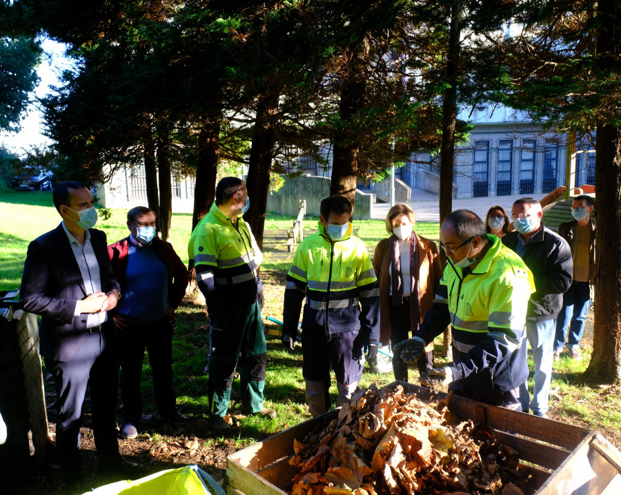
{"label": "dark green work trousers with lighter green lower legs", "polygon": [[231,307],[226,321],[226,328],[212,327],[210,333],[213,345],[208,385],[211,414],[226,416],[238,361],[242,409],[247,413],[259,412],[263,409],[267,363],[259,303]]}

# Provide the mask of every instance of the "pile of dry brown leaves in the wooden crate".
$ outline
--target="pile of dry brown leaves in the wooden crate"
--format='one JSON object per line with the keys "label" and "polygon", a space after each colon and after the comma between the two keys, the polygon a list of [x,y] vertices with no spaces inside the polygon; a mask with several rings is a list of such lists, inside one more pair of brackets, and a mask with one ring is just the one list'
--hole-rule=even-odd
{"label": "pile of dry brown leaves in the wooden crate", "polygon": [[515,450],[438,410],[400,385],[357,392],[328,427],[294,441],[292,495],[524,494]]}

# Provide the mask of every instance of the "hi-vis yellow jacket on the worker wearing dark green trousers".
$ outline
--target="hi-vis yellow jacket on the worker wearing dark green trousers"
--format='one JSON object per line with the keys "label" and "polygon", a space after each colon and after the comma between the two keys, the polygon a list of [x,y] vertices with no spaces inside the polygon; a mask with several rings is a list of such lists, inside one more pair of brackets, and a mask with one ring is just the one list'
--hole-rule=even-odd
{"label": "hi-vis yellow jacket on the worker wearing dark green trousers", "polygon": [[190,236],[188,254],[194,261],[211,324],[216,328],[223,327],[221,320],[226,319],[227,312],[255,303],[257,292],[263,290],[252,241],[242,215],[233,223],[215,202]]}

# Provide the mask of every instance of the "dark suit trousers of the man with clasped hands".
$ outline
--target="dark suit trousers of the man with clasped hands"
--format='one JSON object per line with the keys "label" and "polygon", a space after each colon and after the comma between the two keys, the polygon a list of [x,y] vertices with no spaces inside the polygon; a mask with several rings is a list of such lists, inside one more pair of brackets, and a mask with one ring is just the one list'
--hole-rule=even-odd
{"label": "dark suit trousers of the man with clasped hands", "polygon": [[115,347],[112,336],[86,334],[71,361],[46,359],[56,385],[56,445],[65,479],[77,478],[80,473],[80,427],[87,385],[99,465],[111,464],[119,456],[115,421],[119,361]]}

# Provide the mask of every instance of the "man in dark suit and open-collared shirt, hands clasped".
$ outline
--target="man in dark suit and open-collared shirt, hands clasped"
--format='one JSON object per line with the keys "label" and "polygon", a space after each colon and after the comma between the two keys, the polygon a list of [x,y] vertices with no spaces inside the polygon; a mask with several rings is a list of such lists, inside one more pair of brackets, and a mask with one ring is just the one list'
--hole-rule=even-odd
{"label": "man in dark suit and open-collared shirt, hands clasped", "polygon": [[90,191],[79,182],[66,181],[52,196],[63,221],[28,246],[21,303],[25,311],[41,315],[41,354],[57,390],[61,476],[70,487],[79,488],[80,426],[89,384],[99,472],[125,478],[132,472],[119,456],[115,422],[119,362],[108,319],[121,292],[110,267],[106,234],[92,228],[97,211]]}

